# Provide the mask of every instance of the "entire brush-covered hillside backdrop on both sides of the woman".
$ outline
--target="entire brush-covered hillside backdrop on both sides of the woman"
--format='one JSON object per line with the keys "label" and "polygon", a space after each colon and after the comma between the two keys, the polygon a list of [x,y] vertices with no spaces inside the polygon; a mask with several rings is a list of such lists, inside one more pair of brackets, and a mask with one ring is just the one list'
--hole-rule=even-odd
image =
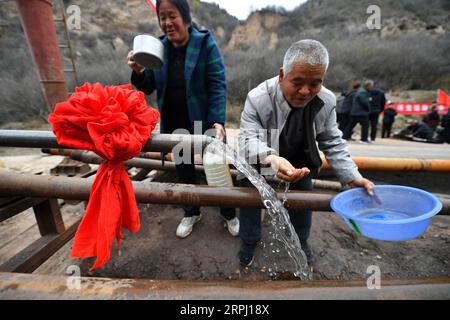
{"label": "entire brush-covered hillside backdrop on both sides of the woman", "polygon": [[[125,60],[133,37],[161,34],[146,1],[64,2],[81,9],[81,30],[71,33],[80,82],[128,82]],[[450,89],[447,0],[310,0],[291,12],[270,7],[246,21],[238,21],[215,4],[199,0],[191,4],[194,21],[212,30],[222,49],[233,105],[242,106],[249,88],[277,74],[285,50],[301,38],[318,39],[329,49],[326,86],[334,91],[363,77],[376,80],[386,90]],[[366,26],[370,4],[381,9],[380,30]],[[0,2],[0,55],[0,108],[4,115],[0,125],[36,115],[45,118],[14,1]]]}

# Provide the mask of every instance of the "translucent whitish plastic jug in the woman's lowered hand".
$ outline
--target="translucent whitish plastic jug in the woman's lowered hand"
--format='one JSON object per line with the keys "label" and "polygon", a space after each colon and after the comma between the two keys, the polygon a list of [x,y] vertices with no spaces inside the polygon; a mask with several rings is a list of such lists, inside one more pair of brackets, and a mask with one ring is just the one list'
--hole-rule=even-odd
{"label": "translucent whitish plastic jug in the woman's lowered hand", "polygon": [[208,185],[216,187],[233,186],[230,167],[224,156],[217,155],[206,149],[203,154],[203,167]]}

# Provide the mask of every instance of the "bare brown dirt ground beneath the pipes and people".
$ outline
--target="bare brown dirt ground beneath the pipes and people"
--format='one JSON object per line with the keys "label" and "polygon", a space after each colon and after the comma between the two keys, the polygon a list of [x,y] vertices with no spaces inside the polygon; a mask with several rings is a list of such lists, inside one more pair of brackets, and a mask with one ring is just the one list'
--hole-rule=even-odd
{"label": "bare brown dirt ground beneath the pipes and people", "polygon": [[[354,145],[358,151],[361,145]],[[393,147],[393,146],[392,146]],[[420,147],[420,146],[419,146]],[[383,150],[387,147],[378,146]],[[445,146],[446,152],[450,151]],[[364,150],[360,150],[361,152]],[[28,171],[36,165],[29,158],[23,158],[21,165],[4,157],[16,155],[5,152],[0,159],[0,167],[15,171]],[[446,157],[444,152],[443,158]],[[33,161],[39,155],[33,151]],[[426,154],[425,154],[426,157]],[[59,160],[59,159],[58,159]],[[28,161],[28,162],[27,162]],[[50,163],[45,159],[45,165]],[[10,163],[14,166],[11,167]],[[423,188],[427,191],[450,194],[450,174],[443,173],[364,173],[378,184],[402,184]],[[323,179],[333,179],[328,174]],[[160,176],[160,181],[173,181],[173,174]],[[203,181],[204,182],[204,181]],[[293,263],[283,246],[272,237],[273,230],[267,217],[263,223],[263,240],[256,250],[256,257],[250,268],[239,266],[238,251],[240,240],[232,237],[224,228],[224,222],[218,208],[202,208],[202,220],[195,226],[193,233],[186,239],[175,236],[176,227],[182,218],[182,209],[176,206],[140,205],[141,230],[136,234],[125,231],[120,253],[115,245],[110,262],[99,270],[89,271],[93,259],[76,260],[70,258],[72,241],[47,260],[35,273],[63,275],[71,265],[78,265],[84,276],[108,278],[145,278],[145,279],[183,279],[183,280],[267,280],[293,279]],[[83,203],[66,204],[62,207],[64,219],[68,223],[81,217]],[[10,241],[0,244],[0,259],[3,261],[11,248],[17,249],[14,241],[21,247],[26,246],[25,239],[32,241],[34,222],[32,213],[23,213],[0,223],[0,234],[14,234]],[[26,223],[24,222],[26,221]],[[26,225],[24,230],[20,226]],[[36,229],[34,227],[34,229]],[[17,240],[16,240],[17,239]],[[5,246],[7,244],[7,246]],[[313,277],[326,279],[363,279],[368,277],[369,266],[379,266],[385,279],[406,279],[416,277],[450,276],[450,216],[436,216],[420,238],[385,242],[371,240],[351,231],[341,218],[331,212],[314,212],[310,244],[315,254]]]}

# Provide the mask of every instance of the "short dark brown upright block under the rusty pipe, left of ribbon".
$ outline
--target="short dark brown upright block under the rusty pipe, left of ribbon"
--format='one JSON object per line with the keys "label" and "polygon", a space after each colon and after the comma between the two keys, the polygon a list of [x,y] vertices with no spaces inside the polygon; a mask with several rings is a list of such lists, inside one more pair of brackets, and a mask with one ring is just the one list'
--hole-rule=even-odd
{"label": "short dark brown upright block under the rusty pipe, left of ribbon", "polygon": [[48,199],[33,206],[41,236],[61,234],[66,230],[58,200]]}

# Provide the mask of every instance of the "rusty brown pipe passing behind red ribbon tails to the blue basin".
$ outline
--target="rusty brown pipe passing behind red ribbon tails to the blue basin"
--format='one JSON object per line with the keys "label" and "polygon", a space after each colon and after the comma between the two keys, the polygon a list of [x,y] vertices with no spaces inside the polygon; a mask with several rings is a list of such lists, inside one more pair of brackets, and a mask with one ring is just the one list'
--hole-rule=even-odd
{"label": "rusty brown pipe passing behind red ribbon tails to the blue basin", "polygon": [[[37,176],[0,171],[0,196],[28,196],[86,200],[92,179]],[[133,182],[139,203],[198,205],[213,207],[263,207],[254,188]],[[280,197],[282,194],[280,193]],[[330,211],[333,194],[293,191],[286,194],[286,207]]]}

